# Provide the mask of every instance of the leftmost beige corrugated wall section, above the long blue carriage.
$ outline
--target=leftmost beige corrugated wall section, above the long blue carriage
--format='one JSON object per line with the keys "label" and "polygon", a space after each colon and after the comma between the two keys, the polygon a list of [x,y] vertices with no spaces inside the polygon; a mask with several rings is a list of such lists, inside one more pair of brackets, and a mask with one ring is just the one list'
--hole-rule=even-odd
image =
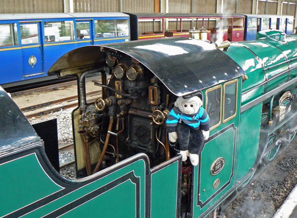
{"label": "leftmost beige corrugated wall section, above the long blue carriage", "polygon": [[0,0],[0,13],[64,12],[63,0]]}

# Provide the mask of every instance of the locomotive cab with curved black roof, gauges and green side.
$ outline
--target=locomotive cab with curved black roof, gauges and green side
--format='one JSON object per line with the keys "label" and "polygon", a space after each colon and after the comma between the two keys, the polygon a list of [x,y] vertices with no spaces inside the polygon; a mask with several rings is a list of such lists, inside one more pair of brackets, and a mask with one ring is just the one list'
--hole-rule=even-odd
{"label": "locomotive cab with curved black roof, gauges and green side", "polygon": [[[82,61],[80,54],[88,57]],[[198,217],[235,190],[245,72],[213,44],[170,38],[86,46],[64,55],[49,72],[79,78],[80,107],[73,112],[79,177],[109,169],[135,154],[147,154],[152,214],[165,207],[168,193],[175,193],[173,205],[182,204],[184,212]],[[101,73],[101,81],[94,85],[102,89],[102,97],[89,104],[84,76],[92,72]],[[210,137],[197,167],[189,161],[181,163],[179,145],[169,142],[164,125],[177,97],[192,95],[202,99],[210,116]],[[175,209],[172,213],[179,214]]]}

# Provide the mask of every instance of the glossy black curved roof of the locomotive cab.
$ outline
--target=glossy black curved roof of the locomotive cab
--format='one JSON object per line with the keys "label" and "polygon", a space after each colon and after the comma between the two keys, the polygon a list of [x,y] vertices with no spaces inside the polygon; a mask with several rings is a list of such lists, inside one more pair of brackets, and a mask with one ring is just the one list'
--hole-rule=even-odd
{"label": "glossy black curved roof of the locomotive cab", "polygon": [[186,37],[170,37],[80,47],[57,60],[49,69],[49,75],[68,68],[102,65],[106,54],[100,47],[138,60],[176,96],[194,94],[245,74],[232,58],[213,44]]}

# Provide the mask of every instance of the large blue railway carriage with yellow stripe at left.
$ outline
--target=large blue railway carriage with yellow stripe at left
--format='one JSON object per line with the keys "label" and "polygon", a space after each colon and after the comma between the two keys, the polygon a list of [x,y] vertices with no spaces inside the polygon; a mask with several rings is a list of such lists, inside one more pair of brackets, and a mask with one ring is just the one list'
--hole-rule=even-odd
{"label": "large blue railway carriage with yellow stripe at left", "polygon": [[130,28],[123,13],[0,14],[0,84],[53,79],[44,78],[46,72],[66,52],[125,41],[130,41]]}

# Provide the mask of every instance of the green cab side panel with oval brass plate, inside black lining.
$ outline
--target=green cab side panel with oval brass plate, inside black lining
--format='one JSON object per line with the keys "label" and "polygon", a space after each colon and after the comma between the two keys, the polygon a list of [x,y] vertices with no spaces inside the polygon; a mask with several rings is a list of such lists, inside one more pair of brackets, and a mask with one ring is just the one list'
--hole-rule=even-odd
{"label": "green cab side panel with oval brass plate, inside black lining", "polygon": [[[231,128],[204,145],[201,152],[200,200],[205,202],[211,195],[227,183],[232,174],[234,156],[235,131]],[[214,152],[215,151],[215,152]],[[225,159],[225,166],[219,174],[210,173],[212,163],[218,158]],[[213,188],[214,181],[219,178],[220,185]]]}

